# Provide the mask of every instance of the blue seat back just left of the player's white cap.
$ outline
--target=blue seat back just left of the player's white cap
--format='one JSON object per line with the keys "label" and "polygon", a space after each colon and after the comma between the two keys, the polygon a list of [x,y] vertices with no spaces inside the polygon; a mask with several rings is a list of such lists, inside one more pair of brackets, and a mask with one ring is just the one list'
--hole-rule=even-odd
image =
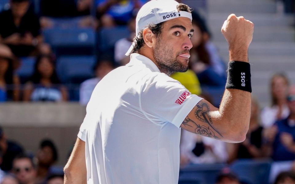
{"label": "blue seat back just left of the player's white cap", "polygon": [[121,38],[128,37],[130,32],[126,26],[118,26],[115,28],[104,28],[98,33],[99,50],[101,52],[112,49],[116,41]]}

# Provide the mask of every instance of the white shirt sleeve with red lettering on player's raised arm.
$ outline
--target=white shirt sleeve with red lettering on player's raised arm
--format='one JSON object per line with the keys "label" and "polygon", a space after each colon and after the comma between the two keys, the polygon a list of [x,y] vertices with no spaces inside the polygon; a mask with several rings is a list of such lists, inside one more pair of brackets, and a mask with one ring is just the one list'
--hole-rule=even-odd
{"label": "white shirt sleeve with red lettering on player's raised arm", "polygon": [[148,77],[141,90],[140,107],[151,122],[170,122],[179,128],[200,100],[180,82],[161,73]]}

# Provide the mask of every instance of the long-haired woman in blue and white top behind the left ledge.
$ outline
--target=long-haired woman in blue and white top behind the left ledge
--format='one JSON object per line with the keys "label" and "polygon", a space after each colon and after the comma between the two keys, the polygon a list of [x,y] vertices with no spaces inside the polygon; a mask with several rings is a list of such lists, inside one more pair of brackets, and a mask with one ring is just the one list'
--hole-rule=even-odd
{"label": "long-haired woman in blue and white top behind the left ledge", "polygon": [[34,68],[34,73],[25,86],[24,101],[60,102],[68,100],[67,89],[60,84],[51,56],[39,56]]}

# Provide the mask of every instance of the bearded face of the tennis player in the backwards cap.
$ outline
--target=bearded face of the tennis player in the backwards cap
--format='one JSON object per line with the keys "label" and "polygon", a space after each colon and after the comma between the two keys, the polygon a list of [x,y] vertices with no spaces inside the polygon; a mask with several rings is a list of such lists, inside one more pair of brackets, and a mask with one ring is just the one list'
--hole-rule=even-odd
{"label": "bearded face of the tennis player in the backwards cap", "polygon": [[162,72],[170,75],[187,71],[193,32],[189,18],[178,17],[164,22],[153,48],[155,62]]}

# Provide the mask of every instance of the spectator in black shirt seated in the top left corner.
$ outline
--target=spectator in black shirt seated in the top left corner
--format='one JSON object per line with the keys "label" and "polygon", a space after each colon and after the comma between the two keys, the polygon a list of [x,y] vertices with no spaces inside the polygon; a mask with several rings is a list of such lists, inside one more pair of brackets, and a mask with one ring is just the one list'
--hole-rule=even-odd
{"label": "spectator in black shirt seated in the top left corner", "polygon": [[0,43],[16,56],[49,54],[51,48],[43,42],[39,18],[28,11],[29,5],[29,0],[10,0],[10,9],[0,13]]}

